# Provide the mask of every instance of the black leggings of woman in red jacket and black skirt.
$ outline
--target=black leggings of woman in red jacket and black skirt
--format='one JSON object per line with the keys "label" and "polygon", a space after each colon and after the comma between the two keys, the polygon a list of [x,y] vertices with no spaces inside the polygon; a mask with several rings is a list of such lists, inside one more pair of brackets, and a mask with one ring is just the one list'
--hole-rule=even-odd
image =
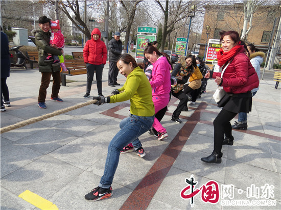
{"label": "black leggings of woman in red jacket and black skirt", "polygon": [[214,150],[218,153],[221,152],[222,142],[224,135],[227,138],[233,138],[231,131],[230,120],[232,120],[237,113],[229,112],[224,109],[220,111],[216,119],[214,120]]}

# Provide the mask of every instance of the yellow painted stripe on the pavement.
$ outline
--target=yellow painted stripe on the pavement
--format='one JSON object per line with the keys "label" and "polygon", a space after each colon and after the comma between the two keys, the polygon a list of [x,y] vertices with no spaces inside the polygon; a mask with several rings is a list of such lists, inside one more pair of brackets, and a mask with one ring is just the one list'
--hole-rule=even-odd
{"label": "yellow painted stripe on the pavement", "polygon": [[18,197],[26,200],[27,202],[31,203],[32,205],[35,205],[36,207],[47,210],[47,209],[56,209],[58,210],[58,207],[53,204],[51,201],[46,200],[45,198],[42,198],[41,196],[26,190],[25,192],[21,193]]}

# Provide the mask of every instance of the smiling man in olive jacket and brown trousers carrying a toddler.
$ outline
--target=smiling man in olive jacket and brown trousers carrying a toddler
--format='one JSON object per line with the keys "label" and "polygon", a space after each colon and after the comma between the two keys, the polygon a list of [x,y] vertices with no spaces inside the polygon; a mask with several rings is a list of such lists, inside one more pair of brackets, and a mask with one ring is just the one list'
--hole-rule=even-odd
{"label": "smiling man in olive jacket and brown trousers carrying a toddler", "polygon": [[59,98],[60,89],[60,66],[54,65],[52,62],[45,61],[48,57],[48,53],[52,55],[62,55],[63,50],[57,49],[50,46],[50,25],[51,19],[46,16],[39,17],[39,29],[32,31],[35,36],[35,44],[38,50],[38,65],[39,71],[41,72],[41,86],[38,95],[38,107],[41,109],[46,109],[45,99],[47,94],[47,88],[49,87],[51,75],[53,76],[53,87],[52,87],[52,101],[62,102],[63,100]]}

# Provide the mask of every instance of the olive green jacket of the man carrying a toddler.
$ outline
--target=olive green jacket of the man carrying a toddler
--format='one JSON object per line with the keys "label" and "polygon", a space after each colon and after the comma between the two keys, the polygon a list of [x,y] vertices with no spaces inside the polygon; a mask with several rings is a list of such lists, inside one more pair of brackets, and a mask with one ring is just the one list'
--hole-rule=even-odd
{"label": "olive green jacket of the man carrying a toddler", "polygon": [[61,50],[50,46],[50,32],[43,32],[41,28],[34,29],[31,32],[35,36],[35,44],[38,50],[38,65],[40,72],[54,72],[60,71],[60,66],[53,67],[52,62],[44,62],[48,53],[60,56]]}

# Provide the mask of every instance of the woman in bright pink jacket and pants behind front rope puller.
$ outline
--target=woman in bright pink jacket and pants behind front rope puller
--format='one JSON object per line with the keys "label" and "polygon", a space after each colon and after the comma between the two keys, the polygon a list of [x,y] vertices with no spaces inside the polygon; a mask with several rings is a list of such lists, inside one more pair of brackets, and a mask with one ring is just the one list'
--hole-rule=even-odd
{"label": "woman in bright pink jacket and pants behind front rope puller", "polygon": [[[155,114],[165,108],[170,100],[171,74],[173,69],[169,57],[161,54],[154,46],[148,46],[144,51],[145,57],[153,65],[152,77],[150,82],[152,88],[152,100],[154,103]],[[158,140],[168,137],[167,130],[161,125],[157,118],[154,118],[152,125],[158,132]]]}

